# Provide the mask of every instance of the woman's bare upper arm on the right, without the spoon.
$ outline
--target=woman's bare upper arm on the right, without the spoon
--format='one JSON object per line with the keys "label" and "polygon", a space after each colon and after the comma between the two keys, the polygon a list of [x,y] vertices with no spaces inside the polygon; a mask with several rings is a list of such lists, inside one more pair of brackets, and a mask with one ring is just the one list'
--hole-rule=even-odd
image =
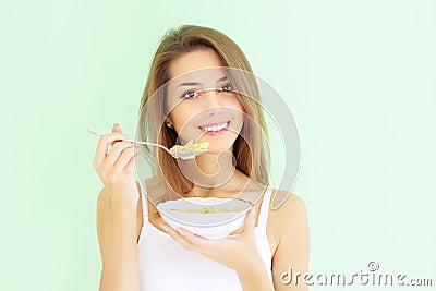
{"label": "woman's bare upper arm on the right, without the spoon", "polygon": [[[278,246],[272,257],[272,279],[276,291],[305,291],[308,287],[304,283],[304,274],[308,270],[308,221],[304,202],[296,195],[291,194],[286,203],[276,210],[278,221]],[[282,277],[283,272],[292,274],[292,281],[289,284],[289,277]],[[298,283],[295,283],[296,277]]]}

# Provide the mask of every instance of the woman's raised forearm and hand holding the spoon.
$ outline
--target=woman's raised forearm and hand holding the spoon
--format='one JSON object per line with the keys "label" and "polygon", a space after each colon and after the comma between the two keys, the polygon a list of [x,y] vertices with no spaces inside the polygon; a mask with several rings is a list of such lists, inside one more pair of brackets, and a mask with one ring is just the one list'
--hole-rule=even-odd
{"label": "woman's raised forearm and hand holding the spoon", "polygon": [[[98,141],[94,169],[105,187],[97,199],[97,235],[102,270],[100,291],[140,291],[137,269],[137,205],[133,179],[135,151],[121,128]],[[108,151],[109,150],[109,151]]]}

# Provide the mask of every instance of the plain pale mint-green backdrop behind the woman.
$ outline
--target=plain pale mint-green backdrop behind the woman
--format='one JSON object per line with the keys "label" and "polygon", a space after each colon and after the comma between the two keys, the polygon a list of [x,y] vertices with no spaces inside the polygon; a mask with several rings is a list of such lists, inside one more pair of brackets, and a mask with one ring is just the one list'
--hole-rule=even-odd
{"label": "plain pale mint-green backdrop behind the woman", "polygon": [[2,1],[0,290],[97,290],[86,129],[133,134],[153,52],[180,24],[233,38],[289,104],[311,270],[376,260],[435,286],[435,15],[421,0]]}

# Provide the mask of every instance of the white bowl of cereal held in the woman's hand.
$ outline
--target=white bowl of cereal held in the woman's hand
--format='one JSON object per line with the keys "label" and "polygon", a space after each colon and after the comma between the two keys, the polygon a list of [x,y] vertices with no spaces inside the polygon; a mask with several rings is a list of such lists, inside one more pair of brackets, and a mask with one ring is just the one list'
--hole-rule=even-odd
{"label": "white bowl of cereal held in the woman's hand", "polygon": [[[201,213],[213,207],[217,213]],[[237,208],[235,208],[237,207]],[[244,223],[251,202],[239,198],[192,197],[159,203],[156,208],[165,222],[207,239],[223,239]],[[191,210],[191,211],[187,211]],[[230,211],[222,211],[228,209]]]}

